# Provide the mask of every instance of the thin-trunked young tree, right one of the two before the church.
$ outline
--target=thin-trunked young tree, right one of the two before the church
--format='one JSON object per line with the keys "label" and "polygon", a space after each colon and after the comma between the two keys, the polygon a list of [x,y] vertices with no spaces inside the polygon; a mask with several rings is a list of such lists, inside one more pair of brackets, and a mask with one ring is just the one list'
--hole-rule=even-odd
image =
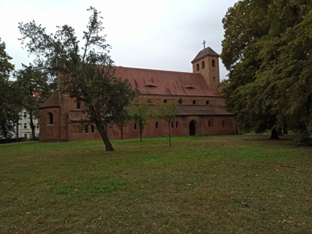
{"label": "thin-trunked young tree, right one of the two before the church", "polygon": [[171,146],[171,129],[170,123],[177,117],[179,114],[178,111],[179,104],[175,101],[160,103],[157,105],[156,117],[165,120],[168,123],[168,133],[169,133],[169,146]]}

